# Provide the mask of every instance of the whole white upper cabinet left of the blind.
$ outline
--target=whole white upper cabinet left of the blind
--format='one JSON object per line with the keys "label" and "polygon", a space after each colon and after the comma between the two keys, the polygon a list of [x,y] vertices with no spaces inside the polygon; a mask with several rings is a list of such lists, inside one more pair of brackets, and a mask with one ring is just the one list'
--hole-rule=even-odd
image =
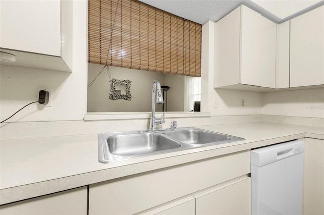
{"label": "whole white upper cabinet left of the blind", "polygon": [[6,65],[71,72],[72,1],[0,1],[0,51]]}

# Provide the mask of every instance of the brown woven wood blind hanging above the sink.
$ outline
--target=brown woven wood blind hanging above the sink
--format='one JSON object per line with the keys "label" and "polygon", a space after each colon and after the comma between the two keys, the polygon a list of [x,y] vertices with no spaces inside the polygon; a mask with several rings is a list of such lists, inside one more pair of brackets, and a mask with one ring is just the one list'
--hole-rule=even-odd
{"label": "brown woven wood blind hanging above the sink", "polygon": [[88,9],[89,63],[200,77],[200,24],[132,0]]}

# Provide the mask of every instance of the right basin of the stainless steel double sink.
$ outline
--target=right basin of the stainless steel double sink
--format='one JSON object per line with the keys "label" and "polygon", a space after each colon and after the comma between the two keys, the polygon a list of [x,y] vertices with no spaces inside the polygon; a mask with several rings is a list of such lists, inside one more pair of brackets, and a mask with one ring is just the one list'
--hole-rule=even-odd
{"label": "right basin of the stainless steel double sink", "polygon": [[171,130],[163,132],[165,135],[187,144],[221,144],[224,142],[234,142],[238,140],[244,140],[239,137],[234,137],[226,134],[206,131],[198,128],[179,128],[177,130]]}

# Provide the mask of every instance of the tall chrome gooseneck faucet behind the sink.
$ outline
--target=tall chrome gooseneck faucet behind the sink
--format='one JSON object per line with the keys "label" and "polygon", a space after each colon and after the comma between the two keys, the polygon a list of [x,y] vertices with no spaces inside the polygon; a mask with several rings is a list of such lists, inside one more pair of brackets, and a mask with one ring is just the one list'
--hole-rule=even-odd
{"label": "tall chrome gooseneck faucet behind the sink", "polygon": [[[155,99],[155,90],[156,90],[156,99]],[[155,125],[161,125],[162,123],[165,123],[164,118],[164,112],[163,112],[163,118],[155,118],[155,103],[157,104],[163,104],[163,96],[161,92],[161,85],[158,80],[154,80],[153,87],[152,87],[152,113],[151,113],[151,119],[150,119],[150,127],[149,130],[155,130]]]}

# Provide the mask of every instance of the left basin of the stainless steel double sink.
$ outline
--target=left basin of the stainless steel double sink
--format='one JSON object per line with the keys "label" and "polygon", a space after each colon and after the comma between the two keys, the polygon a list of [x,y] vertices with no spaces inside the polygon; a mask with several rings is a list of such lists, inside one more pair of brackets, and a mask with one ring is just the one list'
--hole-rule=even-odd
{"label": "left basin of the stainless steel double sink", "polygon": [[146,154],[181,146],[180,143],[156,133],[115,135],[108,137],[107,144],[111,154],[123,156]]}

